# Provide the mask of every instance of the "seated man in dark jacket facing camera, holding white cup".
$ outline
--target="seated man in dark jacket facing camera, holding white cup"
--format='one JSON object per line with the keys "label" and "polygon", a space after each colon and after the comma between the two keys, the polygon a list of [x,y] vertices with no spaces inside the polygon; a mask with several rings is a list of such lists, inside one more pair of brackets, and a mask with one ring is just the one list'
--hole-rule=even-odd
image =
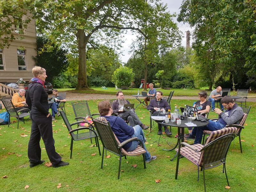
{"label": "seated man in dark jacket facing camera, holding white cup", "polygon": [[[161,91],[156,92],[156,99],[152,99],[147,107],[147,110],[153,110],[152,116],[165,116],[167,114],[160,114],[163,111],[163,108],[168,111],[171,109],[166,100],[162,99],[163,93]],[[164,126],[164,132],[166,135],[170,136],[172,133],[169,131],[167,126]],[[158,123],[158,135],[162,134],[162,124]]]}

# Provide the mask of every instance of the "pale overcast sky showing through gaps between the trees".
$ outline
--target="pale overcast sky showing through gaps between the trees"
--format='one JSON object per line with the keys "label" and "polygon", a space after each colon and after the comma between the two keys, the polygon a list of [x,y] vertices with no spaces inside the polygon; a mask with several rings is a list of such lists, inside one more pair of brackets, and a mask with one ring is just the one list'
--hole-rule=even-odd
{"label": "pale overcast sky showing through gaps between the trees", "polygon": [[[172,14],[174,12],[176,12],[177,14],[179,13],[179,7],[181,6],[181,2],[183,0],[162,0],[162,2],[164,4],[167,4],[168,7],[168,11]],[[177,18],[174,18],[174,22],[176,22],[178,24],[179,30],[183,33],[183,39],[182,39],[182,46],[186,47],[186,31],[190,30],[190,33],[192,32],[189,24],[183,24],[179,23],[177,21]],[[132,40],[134,40],[136,38],[136,35],[132,35],[130,31],[127,32],[127,34],[125,34],[125,42],[123,44],[123,55],[120,55],[120,59],[122,62],[126,63],[128,61],[128,59],[131,57],[130,54],[128,54],[128,51],[130,50],[130,45]],[[191,39],[190,39],[190,44],[191,44]]]}

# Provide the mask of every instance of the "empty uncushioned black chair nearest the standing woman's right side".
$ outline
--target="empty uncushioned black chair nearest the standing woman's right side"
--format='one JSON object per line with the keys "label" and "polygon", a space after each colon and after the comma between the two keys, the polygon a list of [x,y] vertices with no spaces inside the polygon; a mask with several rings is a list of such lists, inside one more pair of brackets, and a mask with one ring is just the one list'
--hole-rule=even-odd
{"label": "empty uncushioned black chair nearest the standing woman's right side", "polygon": [[[78,124],[81,124],[81,123],[87,123],[87,124],[89,124],[89,123],[87,121],[77,121],[75,123],[70,124],[69,120],[67,119],[67,116],[66,116],[66,114],[64,113],[63,110],[60,111],[60,114],[61,114],[62,119],[63,119],[64,123],[66,124],[67,129],[68,129],[68,131],[70,133],[70,136],[71,136],[70,159],[72,158],[73,141],[79,141],[79,140],[84,140],[84,139],[95,138],[96,147],[98,147],[99,154],[101,155],[100,147],[99,147],[99,141],[98,141],[98,134],[94,129],[91,128],[92,126],[87,126],[87,127],[80,126],[76,129],[72,129],[73,125],[78,125]],[[89,124],[89,125],[91,125],[91,124]],[[87,132],[85,130],[87,130]]]}

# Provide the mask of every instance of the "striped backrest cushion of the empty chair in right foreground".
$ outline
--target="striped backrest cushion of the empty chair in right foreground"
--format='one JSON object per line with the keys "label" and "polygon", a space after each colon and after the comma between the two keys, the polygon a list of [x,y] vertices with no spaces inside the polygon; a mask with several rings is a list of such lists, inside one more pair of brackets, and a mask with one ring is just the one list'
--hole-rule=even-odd
{"label": "striped backrest cushion of the empty chair in right foreground", "polygon": [[[213,132],[211,132],[210,136],[205,141],[204,145],[207,145],[208,143],[219,138],[222,135],[226,135],[227,133],[237,133],[237,131],[238,131],[238,129],[236,127],[224,127],[223,129],[213,131]],[[203,151],[201,153],[198,165],[202,166],[202,162],[203,162]]]}

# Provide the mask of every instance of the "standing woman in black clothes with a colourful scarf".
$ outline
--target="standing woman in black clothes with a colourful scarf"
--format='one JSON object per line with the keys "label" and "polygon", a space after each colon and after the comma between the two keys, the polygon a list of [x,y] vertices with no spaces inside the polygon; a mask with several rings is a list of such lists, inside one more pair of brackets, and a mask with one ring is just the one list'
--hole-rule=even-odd
{"label": "standing woman in black clothes with a colourful scarf", "polygon": [[34,78],[31,79],[26,97],[26,103],[29,109],[31,109],[30,119],[32,121],[28,146],[29,166],[34,167],[44,163],[44,160],[41,160],[41,137],[45,143],[45,150],[52,166],[68,165],[69,163],[61,160],[61,156],[56,153],[54,147],[52,117],[48,111],[48,94],[43,87],[47,77],[46,70],[36,66],[32,69],[32,73]]}

